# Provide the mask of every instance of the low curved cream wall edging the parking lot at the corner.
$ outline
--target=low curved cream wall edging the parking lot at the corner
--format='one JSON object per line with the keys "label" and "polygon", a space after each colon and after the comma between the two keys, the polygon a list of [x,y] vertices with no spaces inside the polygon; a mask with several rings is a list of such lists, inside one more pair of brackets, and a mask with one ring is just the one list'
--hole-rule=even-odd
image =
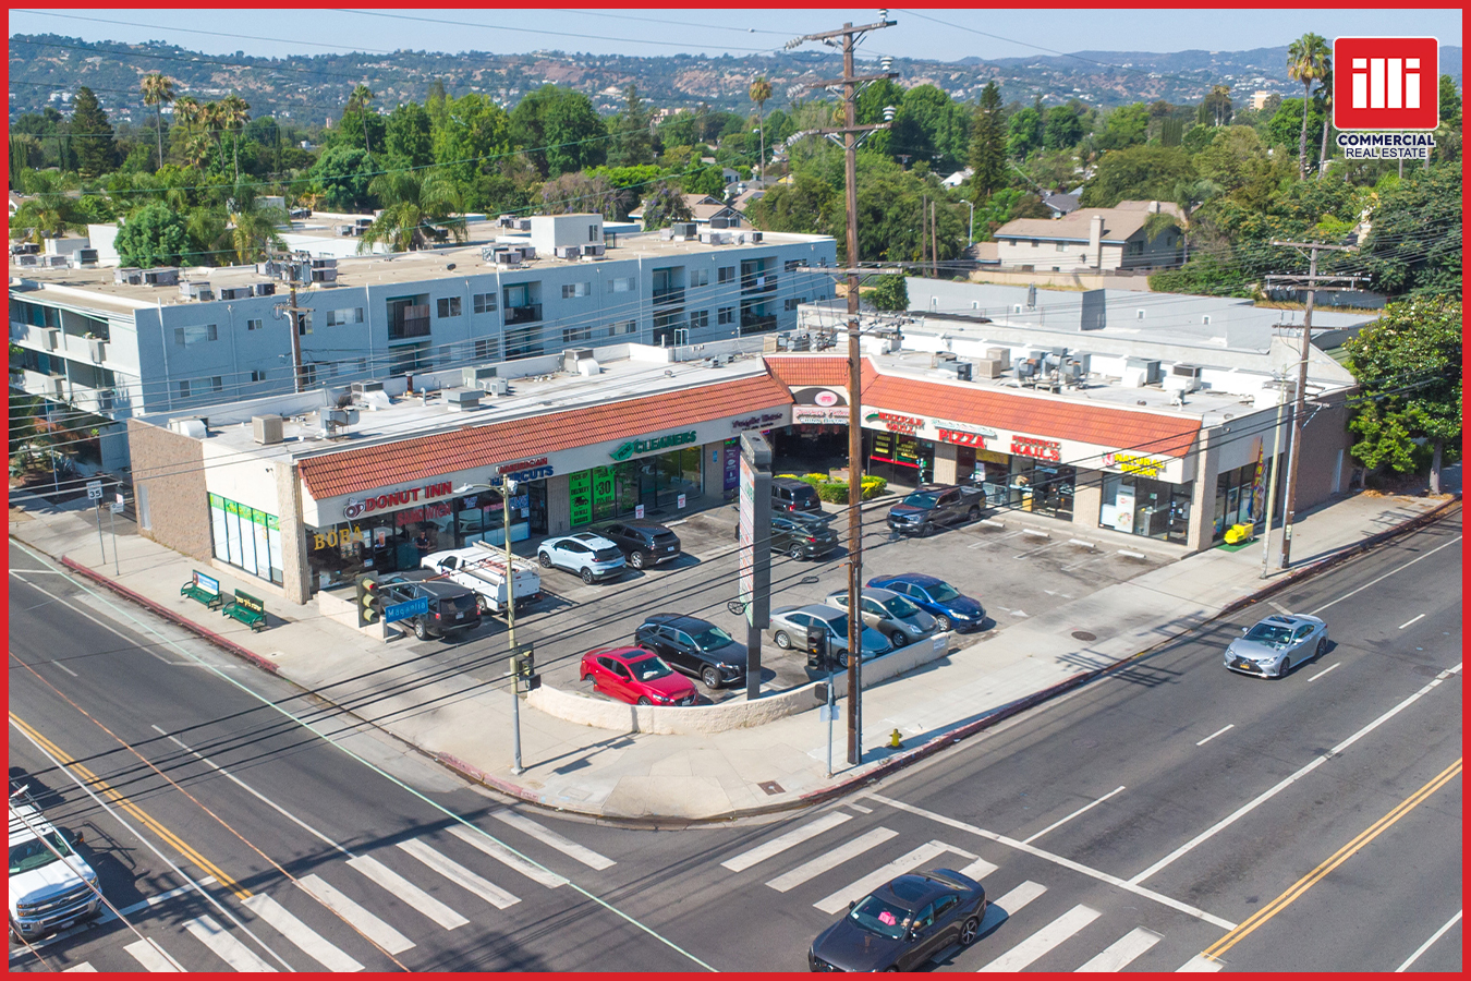
{"label": "low curved cream wall edging the parking lot at the corner", "polygon": [[[930,663],[950,649],[950,635],[937,634],[930,640],[877,657],[863,665],[863,687],[902,675],[906,671]],[[543,684],[527,694],[527,704],[550,716],[580,725],[591,725],[615,732],[653,732],[658,735],[703,735],[724,732],[752,725],[765,725],[775,719],[806,712],[822,704],[819,685],[805,684],[800,688],[781,691],[756,702],[731,699],[721,704],[699,704],[691,707],[669,707],[653,704],[625,704],[606,699],[563,691]],[[836,697],[847,694],[847,674],[834,678]]]}

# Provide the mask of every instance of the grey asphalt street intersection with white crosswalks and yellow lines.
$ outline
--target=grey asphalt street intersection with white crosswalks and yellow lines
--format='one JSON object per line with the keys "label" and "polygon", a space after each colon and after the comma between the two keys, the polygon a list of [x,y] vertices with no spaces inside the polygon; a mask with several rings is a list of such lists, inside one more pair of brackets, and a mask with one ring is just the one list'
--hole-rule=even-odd
{"label": "grey asphalt street intersection with white crosswalks and yellow lines", "polygon": [[[202,928],[210,916],[296,969],[340,963],[331,944],[368,969],[396,957],[409,969],[800,971],[849,897],[903,868],[944,865],[972,869],[993,912],[940,969],[1177,971],[1211,952],[1206,966],[1227,971],[1393,971],[1409,959],[1453,971],[1459,535],[1458,513],[1274,597],[1321,610],[1334,641],[1286,679],[1221,666],[1225,641],[1271,612],[1264,603],[841,803],[659,830],[507,809],[203,644],[116,627],[110,600],[19,571],[10,765],[57,791],[53,819],[88,830],[116,905],[218,874],[212,900],[184,891],[128,913],[188,969],[228,963]],[[12,550],[12,565],[35,563]],[[118,816],[49,768],[28,731],[106,781]],[[496,843],[540,868],[482,850]],[[347,912],[332,913],[293,878],[355,906],[338,900]],[[381,943],[359,907],[402,943]],[[446,930],[425,910],[466,922]],[[137,969],[137,941],[113,922],[40,953],[56,968]],[[13,947],[10,965],[43,969]]]}

